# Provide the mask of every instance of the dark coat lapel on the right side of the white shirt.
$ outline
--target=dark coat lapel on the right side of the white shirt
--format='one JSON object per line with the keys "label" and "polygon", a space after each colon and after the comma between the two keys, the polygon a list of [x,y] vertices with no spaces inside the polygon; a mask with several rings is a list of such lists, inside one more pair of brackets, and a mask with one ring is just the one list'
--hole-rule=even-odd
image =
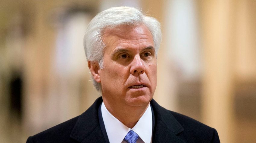
{"label": "dark coat lapel on the right side of the white shirt", "polygon": [[155,129],[153,142],[185,143],[177,135],[184,129],[167,109],[164,109],[152,99],[151,103],[155,114]]}

